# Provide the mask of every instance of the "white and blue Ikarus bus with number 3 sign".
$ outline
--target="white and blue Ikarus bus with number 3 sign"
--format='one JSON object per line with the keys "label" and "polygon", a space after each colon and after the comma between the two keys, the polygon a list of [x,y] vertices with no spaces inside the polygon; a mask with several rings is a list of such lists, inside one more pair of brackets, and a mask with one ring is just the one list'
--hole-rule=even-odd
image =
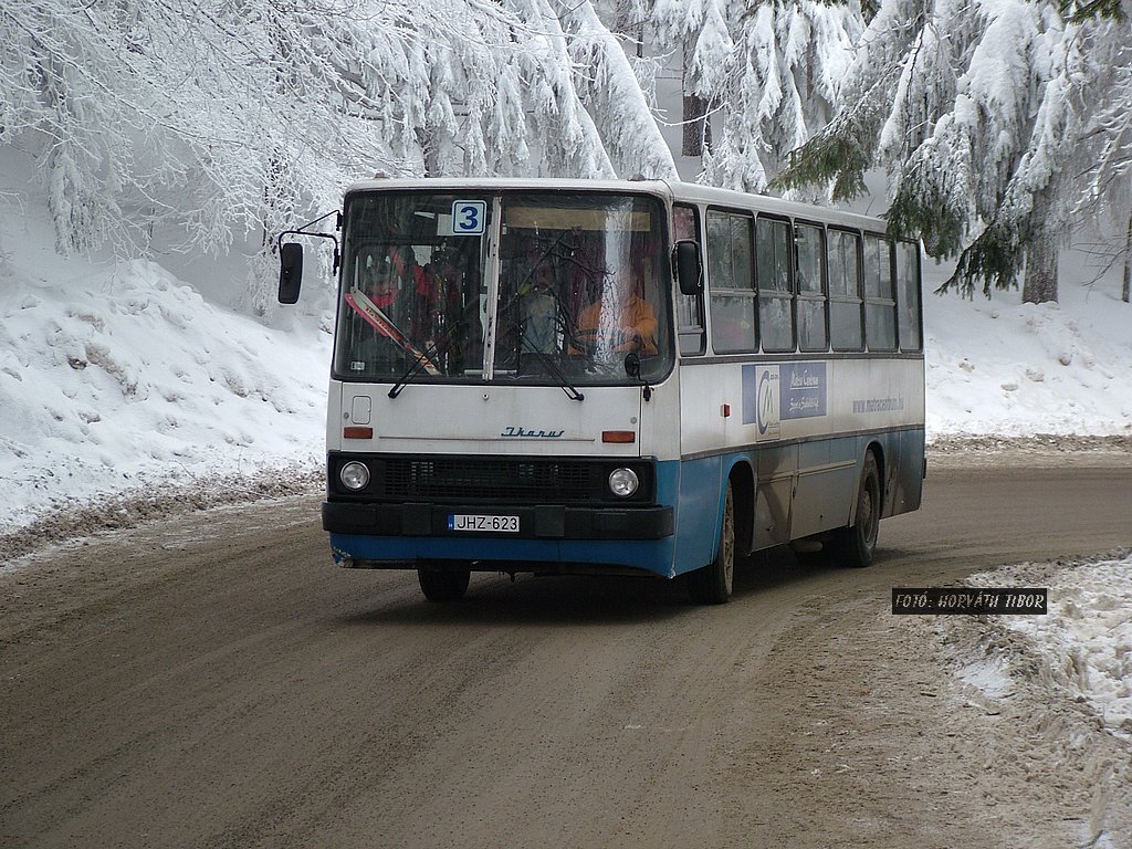
{"label": "white and blue Ikarus bus with number 3 sign", "polygon": [[[686,576],[797,540],[865,566],[925,470],[920,249],[664,181],[375,179],[337,217],[334,560]],[[302,235],[314,233],[289,231]],[[302,248],[282,243],[280,300]]]}

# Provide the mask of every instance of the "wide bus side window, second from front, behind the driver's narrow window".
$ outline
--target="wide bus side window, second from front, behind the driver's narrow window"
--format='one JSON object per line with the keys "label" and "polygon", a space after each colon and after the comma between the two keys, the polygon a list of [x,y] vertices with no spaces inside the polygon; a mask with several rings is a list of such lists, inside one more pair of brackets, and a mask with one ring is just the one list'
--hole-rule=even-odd
{"label": "wide bus side window, second from front, behind the driver's narrow window", "polygon": [[707,284],[711,345],[715,353],[758,350],[755,335],[753,220],[744,213],[707,212]]}

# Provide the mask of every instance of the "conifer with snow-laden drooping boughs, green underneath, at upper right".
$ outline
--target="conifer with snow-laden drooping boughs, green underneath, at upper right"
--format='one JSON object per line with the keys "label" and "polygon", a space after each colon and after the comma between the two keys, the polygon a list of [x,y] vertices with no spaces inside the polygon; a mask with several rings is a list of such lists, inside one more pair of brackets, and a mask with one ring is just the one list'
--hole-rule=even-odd
{"label": "conifer with snow-laden drooping boughs, green underneath, at upper right", "polygon": [[958,256],[945,288],[981,281],[1055,300],[1069,225],[1067,165],[1103,63],[1107,19],[1053,3],[886,0],[861,41],[838,111],[781,186],[829,181],[834,197],[889,174],[890,225]]}

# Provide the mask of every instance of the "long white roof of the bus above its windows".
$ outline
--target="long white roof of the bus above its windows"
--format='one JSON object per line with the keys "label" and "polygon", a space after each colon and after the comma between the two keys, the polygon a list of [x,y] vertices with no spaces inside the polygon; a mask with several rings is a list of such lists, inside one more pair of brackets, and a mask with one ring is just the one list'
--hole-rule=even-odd
{"label": "long white roof of the bus above its windows", "polygon": [[421,177],[384,178],[360,180],[346,188],[346,195],[359,191],[406,191],[428,189],[430,191],[612,191],[636,192],[664,197],[675,201],[688,201],[731,208],[751,208],[772,215],[822,221],[829,224],[884,232],[883,218],[851,213],[834,207],[800,204],[771,197],[752,195],[731,189],[719,189],[692,182],[674,180],[577,180],[546,177]]}

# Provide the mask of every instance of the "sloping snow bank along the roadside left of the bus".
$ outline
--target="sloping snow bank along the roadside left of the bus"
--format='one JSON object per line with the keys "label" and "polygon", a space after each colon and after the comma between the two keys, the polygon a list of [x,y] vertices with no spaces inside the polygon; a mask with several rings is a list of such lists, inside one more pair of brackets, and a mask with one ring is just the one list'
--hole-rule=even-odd
{"label": "sloping snow bank along the roadside left of the bus", "polygon": [[106,491],[321,463],[329,335],[160,266],[0,291],[0,532]]}

